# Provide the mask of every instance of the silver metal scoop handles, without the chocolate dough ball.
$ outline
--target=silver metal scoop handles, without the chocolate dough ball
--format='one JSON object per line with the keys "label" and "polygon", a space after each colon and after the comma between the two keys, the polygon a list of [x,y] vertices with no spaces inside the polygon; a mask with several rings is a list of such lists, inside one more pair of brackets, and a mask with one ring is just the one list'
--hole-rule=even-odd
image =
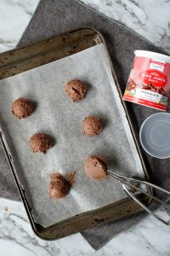
{"label": "silver metal scoop handles, without the chocolate dough ball", "polygon": [[[107,170],[107,174],[111,177],[115,177],[122,183],[122,187],[125,190],[126,194],[133,198],[134,201],[136,201],[140,207],[142,207],[146,212],[148,212],[150,215],[161,221],[163,224],[170,224],[170,219],[168,221],[164,220],[163,218],[160,218],[155,212],[151,212],[148,207],[145,207],[144,204],[138,200],[136,195],[140,193],[143,193],[144,195],[150,196],[151,199],[154,199],[161,203],[164,207],[170,207],[170,205],[166,201],[161,201],[159,198],[157,198],[154,195],[150,195],[150,193],[146,192],[148,189],[158,189],[161,192],[166,193],[167,195],[170,195],[170,191],[167,191],[166,189],[162,189],[159,186],[156,186],[153,183],[149,183],[147,181],[144,181],[141,177],[126,177],[123,175],[119,175],[115,172],[111,172]],[[145,191],[144,191],[145,190]]]}

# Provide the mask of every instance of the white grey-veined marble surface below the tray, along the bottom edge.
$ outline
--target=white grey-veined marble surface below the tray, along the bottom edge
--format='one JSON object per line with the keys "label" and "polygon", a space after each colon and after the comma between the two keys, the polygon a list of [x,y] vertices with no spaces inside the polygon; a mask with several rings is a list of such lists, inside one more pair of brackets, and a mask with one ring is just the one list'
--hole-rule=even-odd
{"label": "white grey-veined marble surface below the tray, along the bottom edge", "polygon": [[[163,218],[170,217],[165,209],[157,211]],[[109,241],[94,253],[80,234],[58,241],[44,241],[31,230],[21,202],[0,199],[0,255],[1,256],[167,256],[170,255],[170,227],[155,218],[144,219],[136,227]]]}

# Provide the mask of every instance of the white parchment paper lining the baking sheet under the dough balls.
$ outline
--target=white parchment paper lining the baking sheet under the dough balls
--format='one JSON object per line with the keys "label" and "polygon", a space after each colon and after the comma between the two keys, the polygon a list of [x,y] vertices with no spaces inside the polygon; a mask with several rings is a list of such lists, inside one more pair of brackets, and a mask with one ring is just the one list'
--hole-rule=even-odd
{"label": "white parchment paper lining the baking sheet under the dough balls", "polygon": [[[65,96],[65,83],[71,79],[87,84],[82,102]],[[15,119],[10,111],[20,96],[37,105],[27,119]],[[82,121],[88,115],[103,121],[104,130],[97,137],[82,134]],[[97,182],[86,177],[83,162],[87,156],[103,154],[110,170],[129,177],[143,175],[103,44],[0,81],[0,117],[33,218],[44,227],[126,197],[114,178]],[[31,152],[28,142],[36,132],[54,137],[54,148],[47,154]],[[69,195],[51,199],[49,173],[71,171],[77,174]]]}

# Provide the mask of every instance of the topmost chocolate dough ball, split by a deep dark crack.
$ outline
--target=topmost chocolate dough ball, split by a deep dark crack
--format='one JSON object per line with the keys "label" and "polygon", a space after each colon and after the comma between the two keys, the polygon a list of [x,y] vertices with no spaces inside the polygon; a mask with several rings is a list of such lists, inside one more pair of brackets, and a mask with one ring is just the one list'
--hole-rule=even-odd
{"label": "topmost chocolate dough ball, split by a deep dark crack", "polygon": [[86,85],[80,80],[72,80],[65,84],[65,93],[73,102],[81,102],[86,94]]}

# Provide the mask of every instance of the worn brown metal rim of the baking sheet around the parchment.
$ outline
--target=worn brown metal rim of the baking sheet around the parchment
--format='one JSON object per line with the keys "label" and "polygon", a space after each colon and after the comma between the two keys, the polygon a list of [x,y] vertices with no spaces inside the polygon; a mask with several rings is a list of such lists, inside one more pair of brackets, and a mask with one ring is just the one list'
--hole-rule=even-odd
{"label": "worn brown metal rim of the baking sheet around the parchment", "polygon": [[[84,38],[84,40],[87,39],[88,36],[89,36],[89,37],[94,37],[94,36],[95,36],[95,37],[99,37],[98,39],[100,40],[100,42],[99,42],[99,43],[96,43],[96,42],[95,42],[95,44],[94,44],[94,41],[93,41],[93,39],[92,39],[92,42],[91,42],[92,45],[91,45],[90,47],[93,47],[93,46],[96,45],[96,44],[102,44],[102,43],[105,44],[105,39],[103,38],[103,36],[102,36],[99,32],[97,32],[94,28],[80,28],[79,30],[76,30],[76,31],[73,31],[73,32],[66,32],[66,33],[64,33],[64,34],[62,34],[62,35],[59,35],[59,36],[56,36],[56,37],[54,37],[54,38],[48,38],[48,39],[46,39],[46,40],[43,40],[42,42],[37,42],[37,43],[35,43],[35,44],[30,44],[30,45],[28,45],[28,46],[26,46],[26,47],[23,47],[23,48],[20,48],[20,49],[25,49],[25,50],[26,50],[28,47],[34,48],[34,46],[37,45],[37,44],[44,44],[44,43],[47,42],[48,40],[53,40],[53,39],[55,39],[55,38],[64,37],[65,35],[67,35],[67,37],[69,38],[69,35],[72,35],[73,33],[77,34],[77,32],[80,33],[80,34],[81,34],[81,32],[82,32],[81,39]],[[89,33],[89,32],[90,32],[90,33]],[[81,41],[81,40],[80,40],[80,41]],[[83,41],[83,40],[82,40],[82,41]],[[49,41],[48,41],[48,42],[49,42]],[[78,42],[78,41],[77,41],[77,42]],[[74,40],[71,41],[70,43],[73,44],[73,43],[74,43]],[[89,47],[88,47],[88,48],[89,48]],[[85,49],[88,49],[88,48],[85,48]],[[105,44],[105,48],[107,49],[106,44]],[[5,52],[5,53],[3,53],[3,54],[0,55],[0,58],[1,58],[2,55],[9,55],[9,57],[10,57],[11,53],[17,52],[17,51],[19,51],[20,49],[14,49],[14,50],[10,50],[10,51],[8,51],[8,52]],[[61,49],[62,49],[62,47],[61,47]],[[83,49],[82,49],[82,50],[83,50]],[[81,50],[79,50],[79,51],[81,51]],[[107,49],[107,53],[108,53],[108,49]],[[73,54],[75,54],[75,53],[72,51],[70,55],[73,55]],[[69,54],[67,54],[67,55],[69,55]],[[66,56],[66,55],[65,55],[65,56]],[[108,53],[108,56],[109,56],[110,63],[111,63],[111,57],[110,57],[109,53]],[[55,60],[58,60],[58,59],[55,59]],[[49,63],[49,62],[51,62],[51,61],[48,61],[47,63]],[[10,63],[10,62],[9,62],[9,63]],[[12,64],[13,64],[13,63],[12,63]],[[42,65],[43,65],[43,64],[42,64]],[[42,66],[42,65],[37,65],[36,67],[39,67],[39,66]],[[9,65],[9,67],[10,67],[10,65]],[[1,68],[0,68],[0,69],[1,69]],[[9,69],[10,69],[10,68],[8,68],[8,70],[9,70]],[[31,69],[31,68],[28,68],[28,70],[29,70],[29,69]],[[142,165],[142,167],[143,167],[144,177],[145,177],[146,179],[149,179],[149,176],[148,176],[146,167],[145,167],[145,165],[144,165],[144,160],[143,160],[142,154],[141,154],[141,152],[140,152],[140,148],[139,148],[138,141],[137,141],[137,139],[136,139],[136,137],[135,137],[135,135],[134,135],[133,125],[132,125],[132,123],[131,123],[130,116],[129,116],[128,113],[127,113],[126,104],[122,101],[122,92],[121,92],[120,86],[119,86],[119,84],[118,84],[118,81],[117,81],[117,79],[116,79],[116,73],[115,73],[115,71],[114,71],[114,68],[113,68],[112,63],[111,63],[111,70],[112,70],[113,79],[115,80],[115,83],[116,83],[116,89],[117,89],[117,91],[118,91],[118,93],[119,93],[119,96],[120,96],[120,98],[121,98],[122,106],[123,106],[123,108],[125,109],[125,113],[126,113],[126,116],[127,116],[127,121],[128,121],[130,130],[131,130],[132,135],[133,135],[133,140],[134,140],[135,146],[136,146],[137,151],[138,151],[138,153],[139,153],[139,159],[140,159],[141,165]],[[23,72],[23,71],[22,71],[22,72]],[[7,73],[6,73],[6,74],[7,74]],[[14,73],[14,74],[15,74],[15,73]],[[13,75],[14,75],[14,74],[13,74]],[[5,153],[5,155],[6,155],[6,157],[7,157],[7,160],[8,160],[9,167],[10,167],[11,171],[13,172],[14,181],[15,181],[15,183],[16,183],[16,185],[17,185],[17,189],[19,190],[20,197],[21,197],[21,199],[22,199],[22,201],[23,201],[23,203],[24,203],[24,206],[25,206],[25,208],[26,208],[26,212],[27,212],[28,218],[29,218],[29,220],[30,220],[32,230],[34,230],[34,232],[36,233],[36,235],[39,236],[40,238],[45,239],[45,240],[59,239],[59,238],[64,237],[64,236],[69,236],[69,235],[71,235],[71,234],[80,232],[80,231],[82,231],[82,230],[84,230],[84,229],[86,229],[86,228],[88,228],[88,227],[96,226],[96,225],[99,225],[99,224],[105,224],[105,223],[111,222],[111,221],[113,221],[113,220],[116,220],[116,219],[119,219],[119,218],[123,218],[123,217],[125,217],[125,216],[130,216],[130,215],[132,215],[132,214],[135,214],[135,213],[137,213],[137,212],[141,212],[141,211],[142,211],[141,207],[137,206],[134,201],[132,201],[132,200],[130,200],[130,199],[125,199],[125,200],[123,199],[123,200],[118,201],[118,202],[116,202],[116,203],[113,203],[113,204],[111,204],[111,205],[109,205],[109,206],[102,207],[102,208],[100,208],[100,209],[98,209],[98,210],[94,210],[94,211],[90,211],[90,212],[84,212],[84,213],[80,214],[79,216],[72,217],[72,218],[68,218],[68,219],[66,219],[66,220],[64,220],[64,221],[61,221],[61,222],[59,222],[59,223],[57,223],[57,224],[54,224],[53,226],[50,226],[50,227],[44,229],[41,225],[36,224],[36,223],[34,222],[34,219],[32,218],[32,215],[31,215],[31,207],[29,206],[29,204],[28,204],[28,202],[27,202],[27,200],[26,200],[25,190],[22,189],[22,187],[21,187],[21,185],[20,185],[19,178],[17,177],[16,172],[14,171],[14,166],[13,166],[13,163],[12,163],[11,154],[8,153],[8,151],[9,151],[9,150],[8,150],[8,143],[6,142],[6,138],[5,138],[4,135],[3,135],[3,131],[0,131],[0,140],[1,140],[1,143],[2,143],[2,145],[3,145],[4,153]],[[151,190],[150,190],[150,193],[152,193]],[[141,201],[144,201],[145,205],[149,205],[149,204],[150,204],[150,199],[149,199],[148,197],[139,195],[139,198],[140,198]],[[122,215],[122,216],[121,216],[121,215],[120,215],[120,212],[119,212],[119,214],[117,214],[117,212],[114,212],[114,211],[113,211],[112,214],[115,213],[115,214],[116,214],[116,218],[115,218],[115,216],[114,216],[114,217],[113,217],[113,216],[110,216],[110,217],[107,216],[106,218],[105,218],[105,217],[104,217],[104,218],[101,218],[101,216],[102,216],[101,211],[102,211],[102,210],[103,210],[103,212],[104,212],[104,215],[105,215],[105,212],[107,212],[107,211],[110,211],[110,213],[111,213],[111,208],[115,208],[115,209],[116,209],[116,205],[117,205],[117,204],[119,205],[119,211],[121,211],[121,206],[122,206],[122,205],[127,206],[127,208],[128,208],[130,204],[132,205],[133,210],[134,210],[134,209],[135,209],[135,210],[132,211],[132,209],[131,209],[131,207],[130,207],[129,209],[127,209],[127,214],[126,214],[126,215]],[[105,208],[105,209],[104,209],[104,208]],[[87,224],[87,225],[85,225],[85,224],[83,224],[83,223],[80,223],[80,222],[81,222],[81,219],[82,219],[82,222],[83,222],[84,215],[90,215],[90,214],[91,214],[92,216],[91,216],[91,217],[87,216],[87,218],[88,218],[88,217],[90,218],[90,222],[88,221],[88,224]],[[107,215],[108,215],[108,214],[107,214]],[[91,221],[91,218],[92,218],[92,221]],[[72,223],[72,220],[74,220],[73,223]],[[76,221],[75,221],[75,220],[76,220]],[[66,223],[65,223],[65,221],[66,221]],[[71,223],[71,225],[76,224],[76,226],[74,226],[74,229],[73,229],[73,230],[71,230],[71,227],[72,227],[72,226],[70,226],[69,223]],[[80,225],[79,225],[78,223],[80,223]],[[84,219],[84,223],[87,223],[86,218]],[[65,224],[66,224],[66,226],[65,226]],[[57,227],[57,226],[58,226],[58,227]],[[60,228],[59,228],[59,226],[60,226]],[[65,229],[66,229],[66,230],[65,230]],[[62,230],[62,231],[60,232],[59,230]]]}

